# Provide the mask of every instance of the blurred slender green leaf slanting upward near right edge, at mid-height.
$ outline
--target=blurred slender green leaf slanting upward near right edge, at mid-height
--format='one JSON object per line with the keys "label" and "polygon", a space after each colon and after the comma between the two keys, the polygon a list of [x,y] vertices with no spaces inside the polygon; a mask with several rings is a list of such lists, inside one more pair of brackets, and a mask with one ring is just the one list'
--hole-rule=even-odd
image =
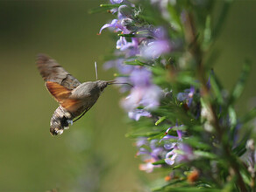
{"label": "blurred slender green leaf slanting upward near right edge, at mid-height", "polygon": [[229,100],[230,105],[235,103],[237,99],[240,97],[240,95],[243,93],[245,88],[245,81],[248,78],[250,70],[251,70],[251,62],[246,60],[245,65],[243,66],[242,72],[240,74],[240,77],[238,79],[238,82],[236,86],[233,88],[233,91],[231,93],[231,98]]}

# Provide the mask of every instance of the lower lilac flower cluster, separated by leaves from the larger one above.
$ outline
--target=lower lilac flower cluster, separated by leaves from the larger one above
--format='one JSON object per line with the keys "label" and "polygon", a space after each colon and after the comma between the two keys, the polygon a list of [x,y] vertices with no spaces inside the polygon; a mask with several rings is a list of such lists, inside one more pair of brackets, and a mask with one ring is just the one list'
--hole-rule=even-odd
{"label": "lower lilac flower cluster, separated by leaves from the larger one above", "polygon": [[147,141],[145,137],[138,138],[136,146],[139,148],[137,155],[141,156],[141,159],[145,162],[139,165],[140,170],[144,170],[147,173],[153,171],[153,168],[161,168],[163,165],[156,164],[155,162],[164,160],[167,165],[172,166],[174,163],[181,163],[182,161],[191,161],[196,158],[193,153],[192,147],[182,143],[182,132],[177,130],[177,136],[168,134],[167,131],[162,139]]}

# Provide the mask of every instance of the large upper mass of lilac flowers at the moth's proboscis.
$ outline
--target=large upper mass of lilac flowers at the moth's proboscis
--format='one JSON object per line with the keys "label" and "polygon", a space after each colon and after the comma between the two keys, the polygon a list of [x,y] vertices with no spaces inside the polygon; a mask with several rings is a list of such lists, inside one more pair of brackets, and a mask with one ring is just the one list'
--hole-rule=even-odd
{"label": "large upper mass of lilac flowers at the moth's proboscis", "polygon": [[[122,1],[110,3],[122,3]],[[120,4],[118,9],[111,11],[117,12],[117,19],[104,24],[100,33],[110,28],[118,32],[120,38],[117,39],[117,51],[115,52],[117,59],[105,63],[105,68],[116,67],[119,76],[116,79],[117,82],[129,82],[133,85],[130,94],[122,101],[122,106],[128,112],[129,117],[133,120],[139,120],[141,116],[151,117],[149,111],[160,105],[162,90],[153,84],[150,67],[127,65],[127,63],[134,62],[135,58],[141,58],[146,59],[149,66],[153,65],[151,59],[160,58],[162,54],[171,50],[170,41],[163,28],[139,24],[138,18],[135,17],[137,10],[134,9],[134,4]],[[125,36],[125,34],[129,35]],[[122,92],[127,90],[129,87],[121,87]]]}

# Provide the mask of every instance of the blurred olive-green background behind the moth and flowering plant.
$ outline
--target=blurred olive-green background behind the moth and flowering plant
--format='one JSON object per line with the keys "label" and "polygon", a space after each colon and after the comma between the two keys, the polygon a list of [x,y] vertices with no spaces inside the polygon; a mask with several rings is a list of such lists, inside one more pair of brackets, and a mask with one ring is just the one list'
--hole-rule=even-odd
{"label": "blurred olive-green background behind the moth and flowering plant", "polygon": [[[121,98],[108,87],[89,113],[58,137],[49,121],[58,106],[35,65],[39,52],[55,58],[80,81],[113,79],[102,70],[115,46],[97,32],[110,14],[89,15],[103,1],[0,1],[0,191],[142,191],[146,179],[127,131]],[[256,2],[236,1],[217,41],[215,72],[231,89],[245,61],[256,61]],[[255,66],[238,108],[256,95]],[[250,104],[248,106],[248,104]]]}

